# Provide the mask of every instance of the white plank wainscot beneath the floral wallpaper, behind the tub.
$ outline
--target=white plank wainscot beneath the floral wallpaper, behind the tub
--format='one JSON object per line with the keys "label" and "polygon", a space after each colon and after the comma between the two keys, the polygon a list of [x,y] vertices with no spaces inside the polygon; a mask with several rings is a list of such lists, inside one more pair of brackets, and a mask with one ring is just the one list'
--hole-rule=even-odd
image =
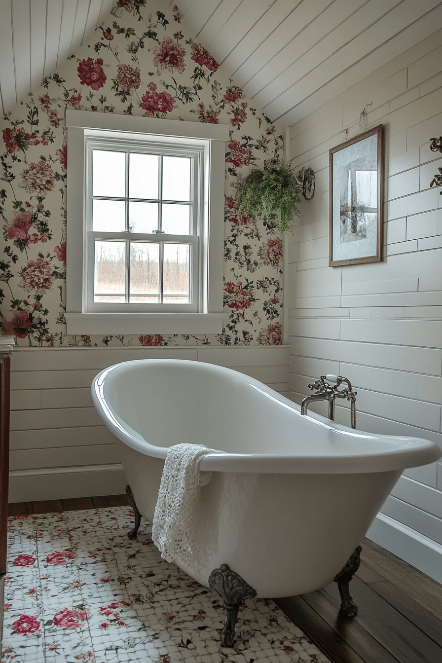
{"label": "white plank wainscot beneath the floral wallpaper, behind the tub", "polygon": [[288,396],[288,346],[16,347],[9,502],[124,493],[115,438],[95,412],[91,381],[120,361],[159,358],[226,366]]}

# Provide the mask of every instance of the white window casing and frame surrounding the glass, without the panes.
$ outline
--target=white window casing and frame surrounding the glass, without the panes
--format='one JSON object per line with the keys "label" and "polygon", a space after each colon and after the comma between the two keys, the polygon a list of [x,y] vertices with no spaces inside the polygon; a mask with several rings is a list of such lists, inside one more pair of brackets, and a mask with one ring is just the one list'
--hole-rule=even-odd
{"label": "white window casing and frame surrounding the glass, without the panes", "polygon": [[[225,142],[227,125],[66,111],[68,127],[68,211],[66,244],[66,323],[70,334],[220,333],[223,326],[223,237]],[[90,230],[90,172],[87,150],[101,141],[125,149],[157,143],[199,154],[199,224],[190,242],[195,257],[192,304],[93,304]],[[105,144],[105,143],[103,143]],[[89,145],[89,148],[88,148]],[[89,234],[89,240],[88,240]],[[99,233],[100,235],[103,233]],[[107,239],[113,233],[105,233]],[[112,235],[112,237],[111,237]],[[137,241],[138,235],[131,233]],[[144,235],[144,238],[146,236]],[[158,239],[166,238],[158,235]],[[173,241],[174,235],[167,235]],[[182,235],[176,236],[183,239]],[[196,245],[196,249],[195,249]],[[199,254],[199,260],[195,252]],[[88,285],[89,284],[89,285]]]}

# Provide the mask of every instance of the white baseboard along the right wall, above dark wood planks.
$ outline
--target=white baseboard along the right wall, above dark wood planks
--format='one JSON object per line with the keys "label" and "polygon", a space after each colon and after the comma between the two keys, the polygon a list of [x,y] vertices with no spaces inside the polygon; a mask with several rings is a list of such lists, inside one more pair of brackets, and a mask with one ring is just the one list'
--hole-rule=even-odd
{"label": "white baseboard along the right wall, above dark wood planks", "polygon": [[378,513],[367,538],[442,583],[442,546],[384,513]]}

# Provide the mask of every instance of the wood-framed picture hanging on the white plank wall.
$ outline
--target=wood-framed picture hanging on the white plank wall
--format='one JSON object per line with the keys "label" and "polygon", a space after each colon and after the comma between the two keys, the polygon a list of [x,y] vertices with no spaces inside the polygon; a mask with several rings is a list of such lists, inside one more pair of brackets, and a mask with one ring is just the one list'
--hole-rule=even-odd
{"label": "wood-framed picture hanging on the white plank wall", "polygon": [[384,125],[329,153],[329,266],[382,261]]}

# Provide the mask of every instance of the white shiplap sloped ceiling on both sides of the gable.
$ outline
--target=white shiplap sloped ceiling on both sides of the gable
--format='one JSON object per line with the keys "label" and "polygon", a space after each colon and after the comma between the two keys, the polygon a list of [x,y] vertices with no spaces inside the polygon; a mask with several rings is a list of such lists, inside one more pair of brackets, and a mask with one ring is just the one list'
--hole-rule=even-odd
{"label": "white shiplap sloped ceiling on both sides of the gable", "polygon": [[[439,0],[176,2],[197,40],[279,127],[294,124],[442,27]],[[97,25],[109,22],[115,4],[0,0],[3,109],[60,66]]]}

